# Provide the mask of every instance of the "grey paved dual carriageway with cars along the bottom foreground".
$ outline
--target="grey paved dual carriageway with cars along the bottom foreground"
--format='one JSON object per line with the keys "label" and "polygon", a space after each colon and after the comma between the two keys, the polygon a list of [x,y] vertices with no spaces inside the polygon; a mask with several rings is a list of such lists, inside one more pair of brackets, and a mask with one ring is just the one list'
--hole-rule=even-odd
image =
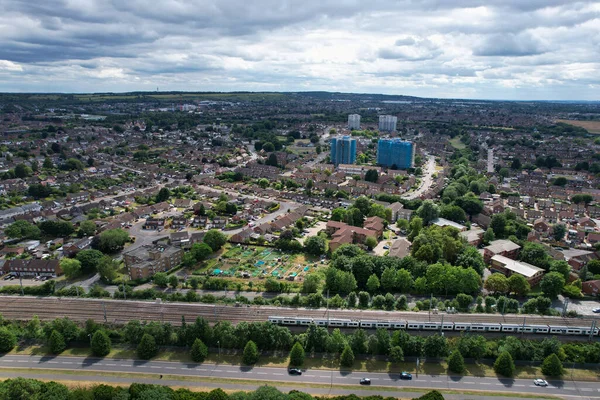
{"label": "grey paved dual carriageway with cars along the bottom foreground", "polygon": [[[600,398],[598,382],[550,381],[550,386],[540,388],[531,379],[497,379],[478,377],[449,377],[446,375],[414,375],[412,381],[403,381],[398,373],[342,372],[337,370],[307,370],[301,376],[288,375],[284,368],[240,367],[219,364],[195,364],[169,361],[138,361],[81,357],[40,357],[5,355],[0,358],[1,368],[35,368],[77,371],[105,371],[125,373],[150,373],[162,375],[188,375],[224,379],[247,379],[269,381],[281,385],[294,383],[318,383],[330,385],[354,385],[367,377],[373,386],[402,388],[487,390],[506,393],[547,394],[560,397],[580,396]],[[59,378],[58,378],[59,379]]]}

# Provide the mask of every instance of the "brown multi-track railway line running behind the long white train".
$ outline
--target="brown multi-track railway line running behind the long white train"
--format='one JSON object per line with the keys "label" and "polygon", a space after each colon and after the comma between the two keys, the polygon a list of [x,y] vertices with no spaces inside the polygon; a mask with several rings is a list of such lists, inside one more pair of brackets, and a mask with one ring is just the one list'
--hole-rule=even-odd
{"label": "brown multi-track railway line running behind the long white train", "polygon": [[[425,312],[376,311],[376,310],[326,310],[283,308],[263,306],[229,306],[202,303],[156,303],[151,301],[59,298],[31,296],[0,296],[0,314],[8,319],[29,320],[37,315],[41,320],[68,317],[74,321],[93,319],[97,322],[124,324],[130,320],[162,321],[173,325],[181,323],[181,317],[191,322],[203,317],[210,322],[242,321],[265,322],[270,316],[302,317],[310,319],[347,319],[391,321],[408,320],[428,323],[500,323],[514,325],[560,325],[566,327],[590,327],[594,318],[562,318],[517,314],[429,314]],[[596,327],[600,321],[596,320]]]}

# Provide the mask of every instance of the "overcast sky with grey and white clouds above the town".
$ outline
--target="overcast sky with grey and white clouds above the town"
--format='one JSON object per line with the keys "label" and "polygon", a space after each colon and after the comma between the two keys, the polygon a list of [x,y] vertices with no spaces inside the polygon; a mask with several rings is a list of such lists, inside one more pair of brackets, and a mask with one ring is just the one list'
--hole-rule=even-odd
{"label": "overcast sky with grey and white clouds above the town", "polygon": [[157,87],[600,100],[600,2],[0,0],[0,91]]}

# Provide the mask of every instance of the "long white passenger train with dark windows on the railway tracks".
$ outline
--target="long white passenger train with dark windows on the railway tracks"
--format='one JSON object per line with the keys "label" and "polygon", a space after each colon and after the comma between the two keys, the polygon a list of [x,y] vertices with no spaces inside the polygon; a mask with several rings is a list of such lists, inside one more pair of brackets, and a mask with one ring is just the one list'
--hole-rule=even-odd
{"label": "long white passenger train with dark windows on the railway tracks", "polygon": [[[316,326],[328,328],[385,328],[406,329],[415,331],[453,331],[453,332],[511,332],[538,333],[548,335],[590,336],[592,327],[529,325],[506,323],[477,323],[477,322],[415,322],[415,321],[371,321],[353,319],[314,319],[303,317],[269,317],[269,322],[275,325]],[[600,328],[594,327],[593,336],[599,336]]]}

